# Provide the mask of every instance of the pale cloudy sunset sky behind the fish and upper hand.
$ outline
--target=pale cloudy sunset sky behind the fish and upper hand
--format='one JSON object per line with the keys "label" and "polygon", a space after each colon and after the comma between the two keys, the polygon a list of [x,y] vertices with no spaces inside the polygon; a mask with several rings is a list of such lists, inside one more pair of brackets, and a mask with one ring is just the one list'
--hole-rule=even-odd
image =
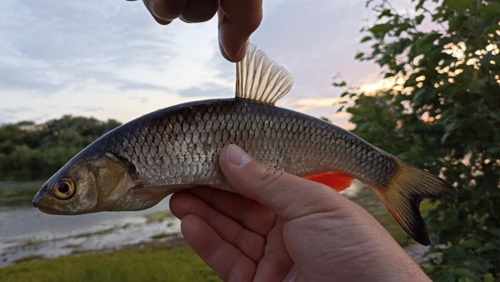
{"label": "pale cloudy sunset sky behind the fish and upper hand", "polygon": [[[400,0],[401,1],[401,0]],[[250,37],[294,76],[277,106],[335,113],[340,74],[351,85],[380,81],[357,62],[372,12],[365,0],[263,0],[263,21]],[[234,96],[235,64],[218,51],[216,19],[160,26],[141,1],[0,1],[0,124],[62,115],[127,122],[171,105]]]}

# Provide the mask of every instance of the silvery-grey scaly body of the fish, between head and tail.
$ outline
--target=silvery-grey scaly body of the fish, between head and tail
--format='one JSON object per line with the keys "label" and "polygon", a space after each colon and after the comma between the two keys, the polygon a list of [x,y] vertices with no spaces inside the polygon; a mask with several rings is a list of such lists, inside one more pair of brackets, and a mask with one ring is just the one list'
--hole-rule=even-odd
{"label": "silvery-grey scaly body of the fish, between head and tail", "polygon": [[120,127],[103,143],[101,150],[135,167],[143,185],[155,186],[223,183],[217,157],[228,144],[295,175],[348,171],[384,186],[396,167],[390,155],[335,125],[237,98],[153,112]]}

